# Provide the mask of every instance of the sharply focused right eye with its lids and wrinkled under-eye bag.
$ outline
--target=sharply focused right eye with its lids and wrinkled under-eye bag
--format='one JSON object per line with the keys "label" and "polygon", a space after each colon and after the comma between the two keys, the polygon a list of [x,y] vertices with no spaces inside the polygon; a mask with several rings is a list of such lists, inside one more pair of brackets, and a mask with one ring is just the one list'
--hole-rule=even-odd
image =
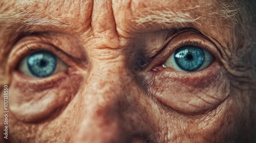
{"label": "sharply focused right eye with its lids and wrinkled under-eye bag", "polygon": [[172,112],[214,110],[230,93],[216,44],[195,30],[181,30],[167,40],[138,74],[138,82]]}

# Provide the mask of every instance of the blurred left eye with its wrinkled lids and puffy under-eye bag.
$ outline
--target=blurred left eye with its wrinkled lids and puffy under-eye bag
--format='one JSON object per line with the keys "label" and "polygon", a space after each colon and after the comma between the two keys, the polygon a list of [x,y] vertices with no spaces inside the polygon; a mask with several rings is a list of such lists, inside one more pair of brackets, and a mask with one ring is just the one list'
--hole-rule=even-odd
{"label": "blurred left eye with its wrinkled lids and puffy under-eye bag", "polygon": [[[87,69],[86,57],[72,50],[76,39],[60,33],[36,33],[20,38],[8,57],[10,109],[22,122],[56,117],[71,102]],[[71,53],[73,52],[73,53]],[[75,55],[75,56],[74,56]],[[26,112],[24,112],[26,110]]]}

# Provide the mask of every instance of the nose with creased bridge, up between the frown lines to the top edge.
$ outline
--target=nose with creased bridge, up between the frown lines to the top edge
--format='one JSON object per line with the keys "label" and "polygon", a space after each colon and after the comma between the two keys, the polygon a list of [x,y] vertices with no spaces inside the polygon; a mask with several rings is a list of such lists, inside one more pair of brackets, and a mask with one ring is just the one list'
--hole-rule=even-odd
{"label": "nose with creased bridge, up between the frown lines to the top edge", "polygon": [[79,93],[80,118],[71,142],[144,142],[141,134],[149,127],[140,104],[147,97],[126,65],[123,49],[129,44],[121,38],[112,2],[94,1],[90,40],[84,44],[91,67]]}

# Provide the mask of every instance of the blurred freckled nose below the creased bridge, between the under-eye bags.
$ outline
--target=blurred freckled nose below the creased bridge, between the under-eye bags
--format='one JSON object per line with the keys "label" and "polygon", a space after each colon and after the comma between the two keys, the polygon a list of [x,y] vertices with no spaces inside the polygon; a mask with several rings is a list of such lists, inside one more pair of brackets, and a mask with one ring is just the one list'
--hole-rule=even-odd
{"label": "blurred freckled nose below the creased bridge, between the under-eye bags", "polygon": [[[110,70],[91,71],[84,84],[80,119],[70,142],[144,142],[125,114],[133,111],[129,89],[122,74]],[[126,93],[125,93],[126,92]]]}

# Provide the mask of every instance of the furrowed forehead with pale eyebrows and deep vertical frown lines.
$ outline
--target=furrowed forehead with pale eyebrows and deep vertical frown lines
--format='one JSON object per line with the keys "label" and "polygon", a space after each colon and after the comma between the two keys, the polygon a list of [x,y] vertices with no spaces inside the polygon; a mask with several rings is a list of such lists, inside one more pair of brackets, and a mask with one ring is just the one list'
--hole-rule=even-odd
{"label": "furrowed forehead with pale eyebrows and deep vertical frown lines", "polygon": [[90,44],[90,39],[95,46],[104,41],[106,47],[119,47],[120,39],[138,33],[192,28],[232,48],[228,45],[234,40],[232,23],[222,15],[222,4],[210,0],[3,1],[0,28],[67,33],[83,44]]}

